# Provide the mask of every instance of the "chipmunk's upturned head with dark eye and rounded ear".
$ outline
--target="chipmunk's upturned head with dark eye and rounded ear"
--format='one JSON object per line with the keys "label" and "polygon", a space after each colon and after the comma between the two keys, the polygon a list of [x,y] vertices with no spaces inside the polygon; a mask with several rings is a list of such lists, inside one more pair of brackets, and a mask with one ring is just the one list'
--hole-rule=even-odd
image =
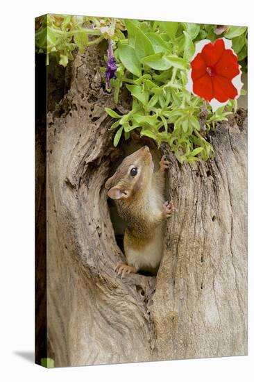
{"label": "chipmunk's upturned head with dark eye and rounded ear", "polygon": [[151,181],[153,160],[148,146],[126,156],[117,171],[105,183],[111,199],[128,199],[144,190]]}

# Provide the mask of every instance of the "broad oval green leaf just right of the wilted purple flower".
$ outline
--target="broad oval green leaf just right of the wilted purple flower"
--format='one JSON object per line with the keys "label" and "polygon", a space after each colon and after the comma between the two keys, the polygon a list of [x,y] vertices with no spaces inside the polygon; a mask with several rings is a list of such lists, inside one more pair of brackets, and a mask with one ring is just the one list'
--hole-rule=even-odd
{"label": "broad oval green leaf just right of the wilted purple flower", "polygon": [[124,64],[126,69],[135,76],[140,77],[142,75],[141,64],[139,63],[135,49],[130,47],[130,45],[121,44],[121,42],[119,42],[118,53],[121,63]]}

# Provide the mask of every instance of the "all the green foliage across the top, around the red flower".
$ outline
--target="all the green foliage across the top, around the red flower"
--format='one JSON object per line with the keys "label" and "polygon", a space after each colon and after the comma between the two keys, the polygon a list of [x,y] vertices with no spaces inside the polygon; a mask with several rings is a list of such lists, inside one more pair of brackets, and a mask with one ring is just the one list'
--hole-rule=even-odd
{"label": "all the green foliage across the top, around the red flower", "polygon": [[[189,61],[196,42],[225,37],[232,40],[242,70],[246,71],[246,27],[46,15],[36,19],[35,30],[36,51],[47,57],[56,55],[63,66],[74,58],[74,51],[82,54],[90,44],[103,38],[112,40],[117,78],[110,83],[115,102],[118,103],[122,87],[132,97],[131,110],[126,115],[105,109],[116,119],[111,126],[116,132],[115,146],[121,135],[128,139],[130,132],[139,128],[140,135],[152,138],[158,147],[167,142],[181,163],[214,156],[206,135],[217,122],[226,120],[236,109],[237,101],[212,113],[208,103],[185,89]],[[102,70],[105,72],[105,68]],[[206,115],[202,128],[201,110]]]}

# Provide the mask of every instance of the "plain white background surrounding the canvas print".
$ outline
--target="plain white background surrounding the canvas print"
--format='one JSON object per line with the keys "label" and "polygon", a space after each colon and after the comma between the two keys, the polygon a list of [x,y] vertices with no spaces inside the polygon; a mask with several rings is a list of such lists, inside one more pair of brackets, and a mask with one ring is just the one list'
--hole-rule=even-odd
{"label": "plain white background surrounding the canvas print", "polygon": [[[44,369],[34,347],[34,17],[69,13],[248,25],[249,35],[249,351],[245,357]],[[253,380],[253,12],[251,1],[42,0],[1,5],[1,300],[2,381]],[[241,202],[241,201],[239,201]]]}

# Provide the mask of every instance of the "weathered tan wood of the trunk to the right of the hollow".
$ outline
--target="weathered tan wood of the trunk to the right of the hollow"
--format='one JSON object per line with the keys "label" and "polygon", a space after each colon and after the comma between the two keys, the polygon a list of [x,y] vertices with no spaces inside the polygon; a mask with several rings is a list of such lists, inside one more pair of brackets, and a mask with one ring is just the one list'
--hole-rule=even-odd
{"label": "weathered tan wood of the trunk to the right of the hollow", "polygon": [[246,127],[221,124],[208,163],[178,165],[170,155],[178,212],[153,298],[158,358],[247,353]]}

